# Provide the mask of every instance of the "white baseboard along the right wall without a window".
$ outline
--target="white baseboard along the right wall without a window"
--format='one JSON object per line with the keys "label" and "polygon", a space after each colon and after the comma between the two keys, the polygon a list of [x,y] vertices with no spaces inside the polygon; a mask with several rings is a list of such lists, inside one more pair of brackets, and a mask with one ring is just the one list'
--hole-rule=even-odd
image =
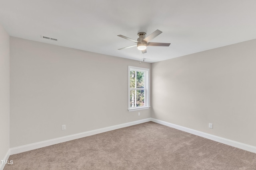
{"label": "white baseboard along the right wall without a window", "polygon": [[216,142],[219,142],[219,143],[224,143],[224,144],[230,145],[232,147],[236,147],[236,148],[239,148],[239,149],[243,149],[243,150],[247,150],[249,152],[256,153],[256,147],[251,146],[251,145],[247,145],[247,144],[244,144],[244,143],[232,141],[232,140],[229,140],[229,139],[225,139],[225,138],[218,137],[218,136],[215,136],[215,135],[211,135],[211,134],[208,134],[208,133],[204,133],[204,132],[201,132],[201,131],[196,131],[194,129],[190,129],[190,128],[183,127],[183,126],[180,126],[180,125],[175,125],[173,123],[169,123],[169,122],[166,122],[166,121],[161,121],[161,120],[154,119],[154,118],[151,118],[151,121],[153,121],[155,123],[159,123],[161,125],[166,125],[168,127],[172,127],[174,129],[178,129],[178,130],[181,130],[181,131],[192,133],[194,135],[204,137],[204,138],[210,139],[212,141],[216,141]]}

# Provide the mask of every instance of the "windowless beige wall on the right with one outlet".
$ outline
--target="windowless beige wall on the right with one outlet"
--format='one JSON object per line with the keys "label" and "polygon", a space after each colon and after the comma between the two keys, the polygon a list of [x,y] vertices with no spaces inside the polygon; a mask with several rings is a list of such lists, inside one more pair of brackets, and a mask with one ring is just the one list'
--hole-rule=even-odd
{"label": "windowless beige wall on the right with one outlet", "polygon": [[151,70],[152,118],[256,146],[255,39],[153,63]]}

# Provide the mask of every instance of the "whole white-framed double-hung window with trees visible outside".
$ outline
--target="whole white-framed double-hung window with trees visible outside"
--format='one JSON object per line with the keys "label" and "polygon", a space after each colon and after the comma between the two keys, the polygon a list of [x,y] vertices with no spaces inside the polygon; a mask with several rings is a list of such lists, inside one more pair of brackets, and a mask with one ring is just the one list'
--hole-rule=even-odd
{"label": "whole white-framed double-hung window with trees visible outside", "polygon": [[149,69],[128,66],[129,111],[148,109],[149,106]]}

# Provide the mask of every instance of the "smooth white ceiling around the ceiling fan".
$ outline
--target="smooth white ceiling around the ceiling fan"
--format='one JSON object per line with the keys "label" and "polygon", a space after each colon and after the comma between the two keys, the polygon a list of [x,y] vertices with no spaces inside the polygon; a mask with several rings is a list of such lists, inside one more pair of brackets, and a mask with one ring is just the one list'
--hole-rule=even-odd
{"label": "smooth white ceiling around the ceiling fan", "polygon": [[[137,39],[159,29],[145,58],[154,63],[256,39],[256,0],[0,0],[10,36],[139,60]],[[41,35],[58,39],[42,39]]]}

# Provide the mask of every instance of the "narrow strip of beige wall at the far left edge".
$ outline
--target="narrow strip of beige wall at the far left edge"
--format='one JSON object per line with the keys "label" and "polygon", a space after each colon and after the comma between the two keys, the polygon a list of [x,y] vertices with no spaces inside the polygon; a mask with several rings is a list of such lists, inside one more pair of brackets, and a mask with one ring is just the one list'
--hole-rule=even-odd
{"label": "narrow strip of beige wall at the far left edge", "polygon": [[[10,145],[10,36],[0,25],[0,160]],[[0,162],[1,164],[1,162]],[[1,165],[0,165],[1,167]]]}

